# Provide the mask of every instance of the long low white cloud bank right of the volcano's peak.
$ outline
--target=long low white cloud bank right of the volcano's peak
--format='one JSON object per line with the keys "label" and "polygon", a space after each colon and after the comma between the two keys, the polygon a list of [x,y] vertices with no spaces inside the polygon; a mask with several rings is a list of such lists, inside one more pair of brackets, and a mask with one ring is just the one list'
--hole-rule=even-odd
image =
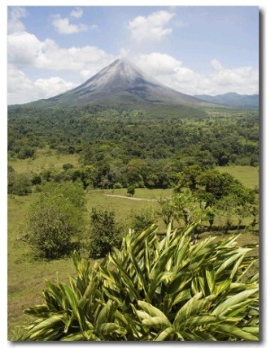
{"label": "long low white cloud bank right of the volcano's peak", "polygon": [[223,67],[217,59],[212,59],[212,71],[198,74],[184,67],[180,60],[166,54],[154,52],[134,58],[138,66],[157,81],[184,94],[238,94],[258,93],[258,71],[252,67]]}

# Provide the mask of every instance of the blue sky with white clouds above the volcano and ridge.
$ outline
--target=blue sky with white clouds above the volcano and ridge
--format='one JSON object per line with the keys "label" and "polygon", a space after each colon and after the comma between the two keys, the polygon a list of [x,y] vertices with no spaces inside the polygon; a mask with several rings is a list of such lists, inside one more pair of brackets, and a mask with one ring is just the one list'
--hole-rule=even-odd
{"label": "blue sky with white clouds above the volcano and ridge", "polygon": [[8,5],[7,103],[63,93],[121,57],[184,94],[258,94],[258,10]]}

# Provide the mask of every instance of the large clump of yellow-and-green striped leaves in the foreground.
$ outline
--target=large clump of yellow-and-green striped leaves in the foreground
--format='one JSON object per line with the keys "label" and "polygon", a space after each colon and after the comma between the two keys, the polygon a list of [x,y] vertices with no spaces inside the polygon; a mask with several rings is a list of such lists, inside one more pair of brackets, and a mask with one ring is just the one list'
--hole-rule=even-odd
{"label": "large clump of yellow-and-green striped leaves in the foreground", "polygon": [[[91,268],[74,254],[70,284],[47,281],[23,341],[257,341],[256,257],[237,237],[192,245],[195,225],[157,235],[130,230]],[[255,245],[253,245],[254,247]]]}

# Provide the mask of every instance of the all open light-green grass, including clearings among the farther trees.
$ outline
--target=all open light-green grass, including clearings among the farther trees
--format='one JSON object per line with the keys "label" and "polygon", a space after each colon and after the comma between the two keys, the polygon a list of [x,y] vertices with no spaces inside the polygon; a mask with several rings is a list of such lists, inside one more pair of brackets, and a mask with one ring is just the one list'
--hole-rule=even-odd
{"label": "all open light-green grass, including clearings among the farther trees", "polygon": [[[19,173],[38,172],[42,168],[60,168],[64,164],[79,165],[79,156],[59,156],[56,153],[41,151],[34,160],[15,160],[9,164]],[[219,168],[220,172],[228,172],[250,188],[258,186],[257,168],[249,166],[233,166]],[[129,198],[126,189],[89,190],[87,210],[103,206],[113,208],[117,221],[129,228],[132,210],[157,209],[160,197],[169,197],[172,190],[136,189],[133,198]],[[68,282],[68,276],[75,272],[70,258],[43,262],[34,260],[31,249],[23,242],[27,233],[25,219],[35,195],[14,196],[8,198],[8,339],[15,341],[22,333],[22,326],[29,322],[23,310],[41,303],[44,280]],[[158,221],[162,226],[161,221]],[[203,233],[202,238],[209,236]],[[221,232],[217,237],[223,239]],[[253,232],[243,233],[238,238],[239,245],[258,243],[258,235]],[[258,251],[257,251],[258,252]]]}

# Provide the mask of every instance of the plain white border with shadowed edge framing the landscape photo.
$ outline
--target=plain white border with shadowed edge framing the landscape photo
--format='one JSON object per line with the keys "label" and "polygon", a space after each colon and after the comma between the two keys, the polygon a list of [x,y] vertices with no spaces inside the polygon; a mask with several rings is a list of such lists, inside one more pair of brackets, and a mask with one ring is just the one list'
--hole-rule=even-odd
{"label": "plain white border with shadowed edge framing the landscape photo", "polygon": [[[263,334],[262,334],[262,342],[260,345],[263,346],[269,346],[269,300],[267,298],[267,294],[269,294],[269,278],[270,274],[269,271],[267,271],[267,261],[269,258],[269,251],[268,246],[269,246],[269,239],[270,239],[270,230],[269,230],[269,223],[268,223],[268,217],[269,213],[267,214],[267,204],[269,203],[269,187],[270,183],[267,183],[267,179],[270,178],[269,176],[269,161],[267,159],[267,155],[269,154],[268,147],[269,147],[269,119],[270,119],[270,114],[267,113],[267,103],[266,103],[266,95],[267,95],[267,82],[269,80],[269,72],[267,71],[266,67],[266,61],[268,61],[269,58],[267,58],[269,55],[268,53],[268,47],[266,46],[267,40],[269,42],[269,1],[267,0],[261,0],[261,1],[236,1],[236,0],[227,0],[227,1],[194,1],[194,0],[183,0],[183,1],[177,1],[177,0],[170,0],[170,1],[164,1],[164,0],[156,0],[153,2],[147,1],[147,0],[137,0],[137,1],[105,1],[105,0],[92,0],[92,1],[82,1],[82,0],[76,0],[76,1],[55,1],[55,0],[1,0],[0,1],[0,23],[1,23],[1,32],[0,32],[0,43],[1,43],[1,57],[2,57],[2,64],[0,65],[1,72],[1,135],[0,135],[0,141],[1,141],[1,146],[0,146],[0,151],[1,151],[1,200],[0,200],[0,207],[1,207],[1,243],[0,243],[0,253],[1,253],[1,297],[0,297],[0,306],[1,306],[1,325],[0,325],[0,344],[1,347],[7,347],[7,346],[13,346],[16,347],[21,344],[19,343],[10,343],[6,341],[7,337],[7,308],[6,308],[6,299],[7,299],[7,280],[6,280],[6,272],[7,272],[7,251],[6,251],[6,245],[7,245],[7,237],[6,237],[6,231],[7,231],[7,223],[6,223],[6,217],[7,217],[7,207],[6,207],[6,9],[7,6],[10,5],[81,5],[81,6],[89,6],[89,5],[148,5],[148,6],[156,6],[156,5],[165,5],[165,6],[180,6],[180,5],[186,5],[186,6],[198,6],[198,5],[212,5],[212,6],[217,6],[217,5],[228,5],[228,6],[235,6],[235,5],[253,5],[253,6],[259,6],[260,11],[263,15],[263,42],[262,42],[262,47],[261,47],[261,55],[262,55],[262,62],[264,63],[263,66],[261,65],[261,86],[263,87],[263,95],[264,95],[264,101],[262,104],[263,107],[263,112],[262,112],[262,117],[263,121],[261,122],[261,125],[263,129],[261,129],[261,139],[263,140],[262,145],[262,156],[261,156],[261,169],[263,169],[263,174],[261,174],[261,179],[262,182],[260,183],[260,188],[261,192],[263,193],[263,201],[261,202],[261,216],[262,216],[262,233],[264,236],[261,238],[261,253],[263,254],[263,260],[261,263],[261,278],[263,280],[262,285],[263,289],[261,290],[263,302],[261,302],[261,308],[263,311],[263,323],[261,325],[263,329]],[[266,40],[267,38],[267,40]],[[262,92],[262,91],[261,91]],[[269,155],[268,155],[269,156]],[[268,270],[270,269],[270,266]],[[3,283],[4,282],[4,283]],[[269,296],[269,295],[268,295]],[[268,329],[267,329],[268,328]],[[268,344],[267,344],[268,343]],[[102,344],[103,346],[107,346],[110,343],[104,343]],[[143,343],[140,343],[139,345],[145,345]],[[181,343],[181,345],[184,343]],[[187,344],[187,343],[186,343]],[[184,345],[186,345],[184,344]],[[222,343],[219,343],[222,344]],[[223,343],[224,344],[224,343]],[[34,344],[35,345],[35,344]],[[57,347],[57,343],[49,343],[49,345],[53,347]],[[61,344],[62,345],[62,344]],[[65,345],[65,344],[64,344]],[[74,344],[73,344],[74,345]],[[75,344],[76,346],[79,346],[79,344]],[[162,346],[168,346],[171,344],[168,343],[163,343]],[[188,344],[191,345],[191,344]],[[200,343],[202,345],[202,343]],[[204,344],[203,344],[204,345]],[[206,344],[205,344],[206,345]],[[235,344],[229,344],[229,346],[234,346]],[[249,346],[250,343],[241,343],[241,346]]]}

